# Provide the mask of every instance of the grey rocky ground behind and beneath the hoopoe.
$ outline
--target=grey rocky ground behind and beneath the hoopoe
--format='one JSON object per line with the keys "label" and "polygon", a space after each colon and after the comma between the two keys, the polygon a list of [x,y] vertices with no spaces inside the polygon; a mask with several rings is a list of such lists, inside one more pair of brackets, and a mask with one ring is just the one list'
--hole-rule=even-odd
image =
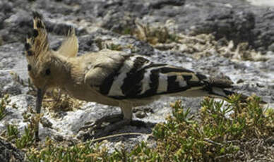
{"label": "grey rocky ground behind and beneath the hoopoe", "polygon": [[[32,27],[31,11],[44,16],[53,49],[58,48],[69,25],[73,25],[79,54],[104,48],[122,50],[205,75],[228,77],[237,92],[257,94],[274,107],[274,8],[271,6],[253,6],[240,0],[2,0],[0,96],[11,94],[11,103],[17,104],[18,109],[7,109],[7,116],[0,121],[0,131],[8,123],[18,125],[23,131],[26,123],[22,114],[35,104],[35,96],[29,93],[26,84],[27,63],[23,55],[23,41]],[[19,83],[21,80],[25,85]],[[183,100],[193,112],[200,108],[200,98],[164,97],[136,108],[134,118],[164,122],[171,113],[169,103],[177,99]],[[79,128],[85,123],[119,113],[119,108],[95,103],[76,104],[70,111],[54,111],[47,105],[50,104],[45,101],[43,111],[49,124],[40,125],[41,137],[50,136],[57,141],[80,137]],[[118,132],[148,134],[151,128],[125,126],[114,133]],[[117,137],[107,144],[124,143],[133,147],[146,139],[148,135]]]}

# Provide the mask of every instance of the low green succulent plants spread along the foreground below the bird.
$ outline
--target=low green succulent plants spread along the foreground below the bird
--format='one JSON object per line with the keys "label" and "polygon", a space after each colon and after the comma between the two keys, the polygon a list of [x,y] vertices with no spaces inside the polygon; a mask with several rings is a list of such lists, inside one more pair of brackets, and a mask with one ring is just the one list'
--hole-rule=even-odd
{"label": "low green succulent plants spread along the foreground below the bird", "polygon": [[[2,102],[6,101],[8,98]],[[15,125],[8,125],[5,136],[19,149],[27,150],[28,161],[246,161],[258,154],[274,158],[266,142],[273,137],[274,111],[263,108],[258,97],[242,103],[239,96],[231,96],[226,104],[205,98],[194,115],[181,101],[171,106],[172,116],[153,129],[156,147],[141,142],[131,151],[122,148],[109,153],[102,143],[93,141],[68,147],[66,142],[48,137],[44,144],[35,143],[33,132],[40,116],[28,113],[25,120],[29,124],[23,135]]]}

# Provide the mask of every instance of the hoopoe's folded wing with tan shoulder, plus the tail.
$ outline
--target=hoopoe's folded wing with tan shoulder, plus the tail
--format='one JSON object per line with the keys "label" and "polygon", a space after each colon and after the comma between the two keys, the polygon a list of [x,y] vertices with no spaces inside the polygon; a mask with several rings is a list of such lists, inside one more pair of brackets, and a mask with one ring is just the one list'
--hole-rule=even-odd
{"label": "hoopoe's folded wing with tan shoulder, plus the tail", "polygon": [[[105,57],[105,58],[104,58]],[[97,87],[103,96],[120,101],[154,100],[169,96],[227,96],[223,88],[230,81],[211,79],[191,70],[153,63],[138,55],[122,52],[104,53],[101,60],[89,69],[86,82]]]}

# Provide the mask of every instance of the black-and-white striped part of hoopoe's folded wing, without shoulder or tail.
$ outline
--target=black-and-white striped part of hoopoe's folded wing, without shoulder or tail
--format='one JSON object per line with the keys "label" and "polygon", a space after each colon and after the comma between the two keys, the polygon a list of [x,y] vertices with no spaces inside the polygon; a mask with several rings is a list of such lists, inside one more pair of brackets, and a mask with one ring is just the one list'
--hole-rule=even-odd
{"label": "black-and-white striped part of hoopoe's folded wing, without shoulder or tail", "polygon": [[191,70],[153,63],[142,56],[126,57],[100,85],[100,93],[114,99],[184,92],[203,87],[203,75]]}

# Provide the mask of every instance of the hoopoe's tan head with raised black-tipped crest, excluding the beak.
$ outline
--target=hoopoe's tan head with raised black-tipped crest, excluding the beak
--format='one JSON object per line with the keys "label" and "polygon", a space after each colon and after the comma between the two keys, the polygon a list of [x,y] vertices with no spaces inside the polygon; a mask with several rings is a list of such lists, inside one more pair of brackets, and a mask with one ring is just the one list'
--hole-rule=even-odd
{"label": "hoopoe's tan head with raised black-tipped crest, excluding the beak", "polygon": [[[78,39],[73,27],[68,30],[68,37],[57,51],[49,49],[49,39],[42,15],[33,12],[33,28],[28,32],[25,42],[25,56],[28,71],[36,87],[54,85],[54,76],[61,71],[66,58],[78,53]],[[61,61],[62,60],[62,61]]]}

